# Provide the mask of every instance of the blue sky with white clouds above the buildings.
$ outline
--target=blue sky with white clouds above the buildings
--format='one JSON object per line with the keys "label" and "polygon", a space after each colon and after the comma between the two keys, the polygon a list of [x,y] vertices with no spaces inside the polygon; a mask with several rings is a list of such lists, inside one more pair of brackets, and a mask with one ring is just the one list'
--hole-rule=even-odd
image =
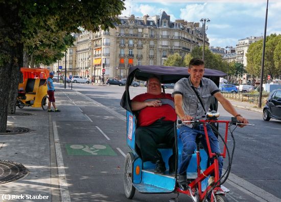
{"label": "blue sky with white clouds above the buildings", "polygon": [[[122,16],[159,15],[165,11],[171,21],[206,22],[210,46],[235,47],[238,40],[264,36],[267,0],[126,0]],[[202,26],[202,23],[200,23]],[[269,0],[266,35],[281,34],[281,0]]]}

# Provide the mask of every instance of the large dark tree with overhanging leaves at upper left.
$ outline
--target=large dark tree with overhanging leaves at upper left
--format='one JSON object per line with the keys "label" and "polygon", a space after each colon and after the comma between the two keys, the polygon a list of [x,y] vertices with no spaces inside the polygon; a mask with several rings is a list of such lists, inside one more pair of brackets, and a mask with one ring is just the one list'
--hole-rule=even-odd
{"label": "large dark tree with overhanging leaves at upper left", "polygon": [[99,1],[0,1],[0,132],[6,132],[8,103],[16,101],[24,40],[30,40],[52,21],[58,31],[78,33],[78,27],[93,32],[119,23],[124,10],[120,0]]}

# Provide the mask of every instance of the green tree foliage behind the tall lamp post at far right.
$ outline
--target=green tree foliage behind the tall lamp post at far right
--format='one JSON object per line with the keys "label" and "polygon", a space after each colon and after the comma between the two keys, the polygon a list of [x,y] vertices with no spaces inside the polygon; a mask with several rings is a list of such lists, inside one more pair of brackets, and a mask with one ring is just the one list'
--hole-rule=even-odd
{"label": "green tree foliage behind the tall lamp post at far right", "polygon": [[[263,40],[252,43],[246,53],[249,74],[261,75]],[[279,77],[281,74],[281,35],[271,34],[266,37],[264,76]]]}

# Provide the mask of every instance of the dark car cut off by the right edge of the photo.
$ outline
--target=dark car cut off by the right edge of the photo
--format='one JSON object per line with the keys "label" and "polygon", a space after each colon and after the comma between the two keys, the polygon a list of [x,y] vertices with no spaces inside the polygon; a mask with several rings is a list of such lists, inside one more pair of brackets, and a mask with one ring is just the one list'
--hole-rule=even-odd
{"label": "dark car cut off by the right edge of the photo", "polygon": [[274,90],[269,95],[264,106],[263,118],[265,121],[271,118],[281,120],[281,89]]}

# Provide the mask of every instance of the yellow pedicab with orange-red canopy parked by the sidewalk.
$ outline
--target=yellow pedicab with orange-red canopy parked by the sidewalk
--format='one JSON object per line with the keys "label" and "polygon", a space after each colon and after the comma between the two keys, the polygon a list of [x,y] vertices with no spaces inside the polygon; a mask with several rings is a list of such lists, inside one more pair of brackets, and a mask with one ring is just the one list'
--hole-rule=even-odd
{"label": "yellow pedicab with orange-red canopy parked by the sidewalk", "polygon": [[42,107],[48,109],[47,86],[44,85],[49,77],[48,69],[41,68],[20,68],[22,73],[22,83],[18,84],[18,96],[16,106],[24,108],[25,106]]}

